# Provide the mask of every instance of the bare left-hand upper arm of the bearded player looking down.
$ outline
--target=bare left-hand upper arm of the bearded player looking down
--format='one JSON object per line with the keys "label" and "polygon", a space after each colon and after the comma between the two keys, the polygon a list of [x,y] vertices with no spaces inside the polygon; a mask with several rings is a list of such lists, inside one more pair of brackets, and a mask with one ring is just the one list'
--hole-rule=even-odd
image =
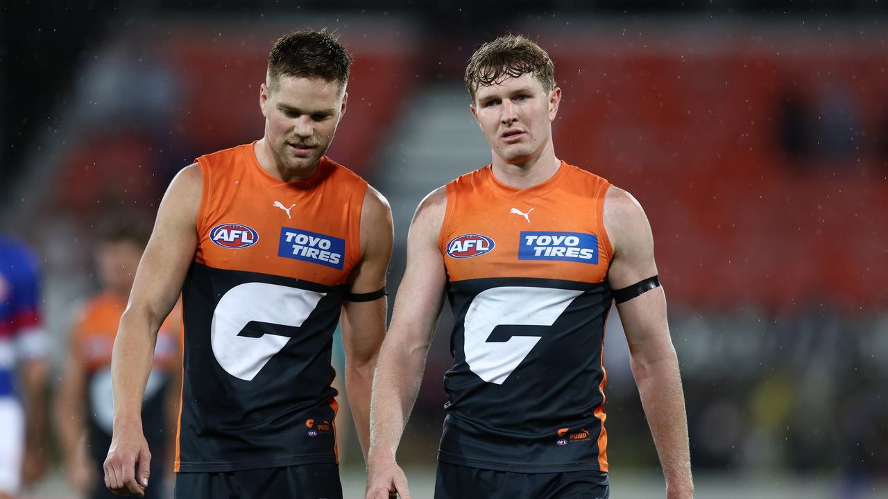
{"label": "bare left-hand upper arm of the bearded player looking down", "polygon": [[163,321],[176,304],[197,248],[201,192],[201,170],[196,163],[179,171],[170,182],[139,262],[129,309],[150,313],[155,320]]}

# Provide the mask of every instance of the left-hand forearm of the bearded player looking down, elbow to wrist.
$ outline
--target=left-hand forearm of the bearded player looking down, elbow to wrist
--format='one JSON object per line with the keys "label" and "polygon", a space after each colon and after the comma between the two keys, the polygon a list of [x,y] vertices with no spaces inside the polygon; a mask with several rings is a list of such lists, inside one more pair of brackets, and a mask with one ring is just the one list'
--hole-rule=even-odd
{"label": "left-hand forearm of the bearded player looking down, elbow to wrist", "polygon": [[160,321],[150,313],[128,310],[123,313],[111,356],[111,384],[114,388],[115,427],[141,426],[142,398],[154,359]]}

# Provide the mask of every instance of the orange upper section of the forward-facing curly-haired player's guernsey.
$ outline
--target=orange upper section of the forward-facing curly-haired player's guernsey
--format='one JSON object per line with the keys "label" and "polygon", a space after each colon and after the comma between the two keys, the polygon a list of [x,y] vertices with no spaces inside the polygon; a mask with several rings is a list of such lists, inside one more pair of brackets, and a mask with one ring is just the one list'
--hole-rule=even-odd
{"label": "orange upper section of the forward-facing curly-haired player's guernsey", "polygon": [[[566,162],[552,178],[527,189],[503,185],[489,165],[456,178],[447,185],[439,237],[448,280],[510,276],[604,281],[613,254],[602,221],[609,186],[604,178]],[[536,234],[540,232],[560,234]],[[571,234],[589,234],[594,241]],[[460,239],[464,235],[470,237]],[[589,265],[592,259],[595,265]]]}

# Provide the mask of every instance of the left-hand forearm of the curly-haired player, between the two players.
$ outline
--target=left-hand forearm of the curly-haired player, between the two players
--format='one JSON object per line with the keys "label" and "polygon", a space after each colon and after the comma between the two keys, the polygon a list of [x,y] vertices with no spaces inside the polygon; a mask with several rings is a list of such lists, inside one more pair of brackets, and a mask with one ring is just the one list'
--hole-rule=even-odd
{"label": "left-hand forearm of the curly-haired player, between the two players", "polygon": [[369,459],[391,458],[423,381],[428,345],[400,344],[392,331],[379,352],[370,408]]}

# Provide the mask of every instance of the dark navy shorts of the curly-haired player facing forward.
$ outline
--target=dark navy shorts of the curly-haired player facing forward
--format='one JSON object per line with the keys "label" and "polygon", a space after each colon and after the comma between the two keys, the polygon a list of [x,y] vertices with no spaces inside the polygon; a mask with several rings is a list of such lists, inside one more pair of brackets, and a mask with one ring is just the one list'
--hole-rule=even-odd
{"label": "dark navy shorts of the curly-haired player facing forward", "polygon": [[435,499],[607,499],[607,473],[515,473],[438,463]]}

